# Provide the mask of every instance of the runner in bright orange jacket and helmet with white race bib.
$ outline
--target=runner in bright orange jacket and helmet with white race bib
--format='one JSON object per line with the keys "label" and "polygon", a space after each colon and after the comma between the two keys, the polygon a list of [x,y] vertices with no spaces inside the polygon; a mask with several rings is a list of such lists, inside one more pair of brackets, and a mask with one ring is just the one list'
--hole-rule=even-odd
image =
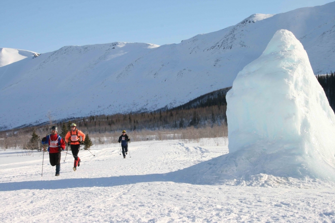
{"label": "runner in bright orange jacket and helmet with white race bib", "polygon": [[65,136],[65,141],[67,145],[70,146],[74,158],[73,171],[77,169],[77,166],[78,167],[80,166],[80,159],[78,157],[79,147],[80,144],[83,145],[83,142],[85,140],[85,134],[83,134],[80,130],[78,130],[76,126],[77,126],[76,124],[72,123],[70,125],[71,130],[67,132]]}

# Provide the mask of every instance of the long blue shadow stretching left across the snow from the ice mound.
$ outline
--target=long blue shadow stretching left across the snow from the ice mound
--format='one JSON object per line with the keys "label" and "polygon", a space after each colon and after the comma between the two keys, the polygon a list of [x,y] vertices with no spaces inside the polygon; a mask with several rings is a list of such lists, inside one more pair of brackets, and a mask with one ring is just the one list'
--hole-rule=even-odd
{"label": "long blue shadow stretching left across the snow from the ice mound", "polygon": [[206,175],[205,172],[207,172],[208,169],[211,169],[211,167],[215,166],[215,163],[217,163],[217,159],[222,159],[220,157],[201,162],[199,164],[182,170],[177,170],[165,174],[130,175],[84,179],[61,179],[51,181],[8,182],[0,183],[0,191],[16,191],[23,189],[48,190],[77,187],[113,187],[147,182],[174,182],[195,185],[215,185],[219,183],[216,177],[207,175],[206,178],[203,178],[203,175]]}

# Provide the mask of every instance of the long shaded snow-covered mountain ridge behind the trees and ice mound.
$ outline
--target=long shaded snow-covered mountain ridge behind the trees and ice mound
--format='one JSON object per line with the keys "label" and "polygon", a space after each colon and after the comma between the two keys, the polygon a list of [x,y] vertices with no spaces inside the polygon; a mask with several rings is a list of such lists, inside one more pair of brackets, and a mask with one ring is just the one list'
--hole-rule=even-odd
{"label": "long shaded snow-covered mountain ridge behind the trees and ice mound", "polygon": [[315,74],[335,70],[335,2],[253,14],[179,44],[65,46],[0,67],[0,128],[90,114],[154,110],[232,85],[275,31],[302,43]]}

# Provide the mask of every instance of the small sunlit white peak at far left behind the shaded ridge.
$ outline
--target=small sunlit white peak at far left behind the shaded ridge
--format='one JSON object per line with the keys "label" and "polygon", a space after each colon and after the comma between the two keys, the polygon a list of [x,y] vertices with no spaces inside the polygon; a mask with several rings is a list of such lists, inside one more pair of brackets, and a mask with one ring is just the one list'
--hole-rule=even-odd
{"label": "small sunlit white peak at far left behind the shaded ridge", "polygon": [[17,62],[28,56],[32,57],[34,54],[35,52],[28,50],[0,48],[0,67]]}

